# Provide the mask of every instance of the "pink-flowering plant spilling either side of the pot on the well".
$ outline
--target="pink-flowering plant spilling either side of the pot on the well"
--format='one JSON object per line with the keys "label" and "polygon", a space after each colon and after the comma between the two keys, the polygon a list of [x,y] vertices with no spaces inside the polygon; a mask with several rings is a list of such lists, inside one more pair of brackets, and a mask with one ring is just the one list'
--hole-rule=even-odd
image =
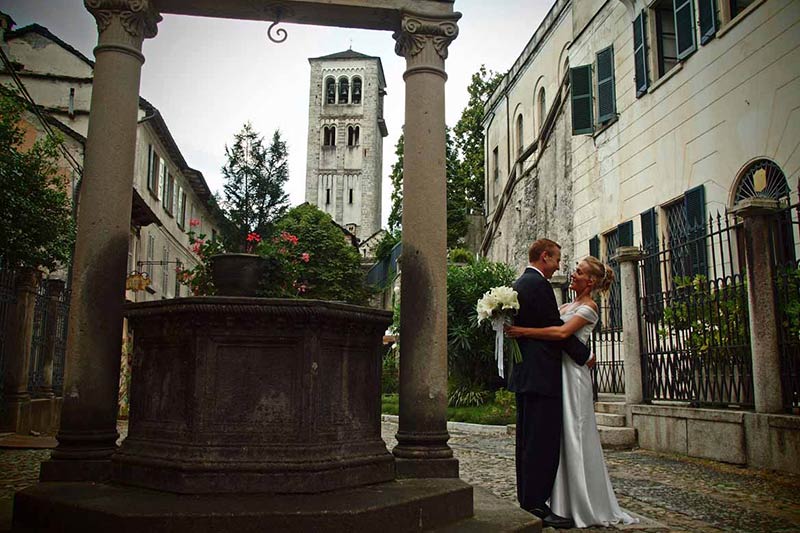
{"label": "pink-flowering plant spilling either side of the pot on the well", "polygon": [[[198,264],[190,269],[178,271],[178,279],[187,285],[195,296],[215,294],[211,279],[211,257],[225,253],[220,240],[210,240],[205,234],[196,234],[194,228],[200,221],[189,222],[189,245],[199,259]],[[300,265],[311,261],[311,254],[299,247],[299,239],[287,231],[281,231],[271,238],[262,238],[256,232],[247,234],[244,252],[256,254],[264,258],[264,279],[261,282],[259,296],[271,298],[302,297],[308,284],[301,279]]]}

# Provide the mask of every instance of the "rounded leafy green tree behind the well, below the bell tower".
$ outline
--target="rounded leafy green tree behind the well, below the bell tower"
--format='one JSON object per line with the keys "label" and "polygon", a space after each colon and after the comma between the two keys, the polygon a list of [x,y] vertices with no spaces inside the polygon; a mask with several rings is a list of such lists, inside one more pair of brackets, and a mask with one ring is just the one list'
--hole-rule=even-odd
{"label": "rounded leafy green tree behind the well, below the bell tower", "polygon": [[308,253],[308,261],[300,262],[297,269],[301,297],[367,302],[370,293],[361,256],[329,214],[304,203],[289,210],[276,229],[296,236],[300,249]]}

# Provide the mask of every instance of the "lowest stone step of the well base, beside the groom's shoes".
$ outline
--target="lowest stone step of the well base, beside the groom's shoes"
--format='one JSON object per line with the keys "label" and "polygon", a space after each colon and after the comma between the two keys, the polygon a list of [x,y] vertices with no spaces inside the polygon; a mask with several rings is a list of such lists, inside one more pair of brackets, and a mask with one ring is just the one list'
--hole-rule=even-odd
{"label": "lowest stone step of the well base, beside the groom's shoes", "polygon": [[538,533],[542,522],[515,503],[495,496],[486,489],[473,486],[475,514],[431,533]]}

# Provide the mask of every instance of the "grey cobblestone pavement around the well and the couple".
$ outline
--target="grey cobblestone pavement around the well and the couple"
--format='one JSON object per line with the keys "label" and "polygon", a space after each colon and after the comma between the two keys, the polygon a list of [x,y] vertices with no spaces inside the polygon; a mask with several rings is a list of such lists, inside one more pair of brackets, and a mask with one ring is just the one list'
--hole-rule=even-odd
{"label": "grey cobblestone pavement around the well and the couple", "polygon": [[[383,423],[390,448],[396,432],[395,423]],[[516,502],[511,437],[454,430],[450,444],[465,481]],[[36,482],[39,463],[49,453],[0,449],[0,508],[10,511],[14,492]],[[606,461],[620,504],[642,518],[618,529],[800,532],[800,476],[646,450],[608,450]]]}

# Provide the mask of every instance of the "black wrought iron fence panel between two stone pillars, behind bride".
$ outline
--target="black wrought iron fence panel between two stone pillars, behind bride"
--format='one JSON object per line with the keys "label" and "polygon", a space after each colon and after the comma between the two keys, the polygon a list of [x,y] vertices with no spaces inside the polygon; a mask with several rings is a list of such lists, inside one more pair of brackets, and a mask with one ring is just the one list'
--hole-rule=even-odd
{"label": "black wrought iron fence panel between two stone pillars, behind bride", "polygon": [[645,400],[752,407],[747,288],[737,225],[711,216],[661,246],[640,265]]}

